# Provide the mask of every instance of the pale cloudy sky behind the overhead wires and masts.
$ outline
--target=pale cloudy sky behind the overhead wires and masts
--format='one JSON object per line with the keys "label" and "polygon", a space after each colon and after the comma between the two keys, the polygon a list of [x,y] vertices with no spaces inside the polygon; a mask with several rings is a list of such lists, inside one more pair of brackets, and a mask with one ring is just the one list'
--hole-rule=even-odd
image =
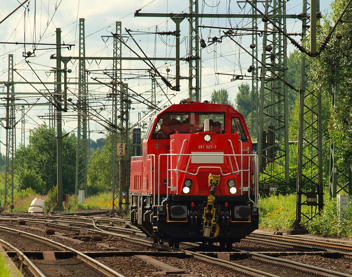
{"label": "pale cloudy sky behind the overhead wires and masts", "polygon": [[[5,18],[12,12],[20,2],[15,0],[2,0],[0,10],[0,19]],[[27,4],[25,4],[27,6]],[[136,10],[142,9],[140,13],[181,13],[189,12],[189,1],[169,1],[169,0],[130,0],[130,1],[112,1],[112,0],[30,0],[29,9],[23,7],[19,8],[8,19],[0,24],[0,41],[1,42],[40,42],[40,43],[55,43],[55,30],[61,28],[62,40],[66,44],[76,44],[71,50],[62,49],[62,56],[78,56],[78,24],[79,19],[85,19],[85,34],[86,34],[86,56],[111,57],[113,53],[113,40],[108,37],[111,32],[115,32],[115,21],[122,21],[122,32],[125,33],[125,28],[131,29],[133,36],[136,38],[138,44],[149,57],[175,57],[175,37],[174,36],[159,36],[147,32],[157,31],[174,31],[175,23],[170,18],[152,18],[152,17],[134,17]],[[264,11],[264,7],[258,5],[260,10]],[[320,10],[323,14],[328,11],[328,1],[320,1]],[[302,12],[302,2],[297,0],[287,1],[287,14],[299,14]],[[199,1],[199,13],[218,13],[218,14],[248,14],[250,7],[244,5],[243,1],[220,1],[220,0],[205,0]],[[35,16],[34,16],[35,15]],[[188,20],[184,19],[181,23],[181,57],[188,55]],[[202,19],[199,21],[200,25],[214,26],[214,27],[251,27],[250,19]],[[297,19],[287,20],[287,32],[301,32],[302,24]],[[260,26],[259,26],[260,29]],[[140,33],[134,32],[139,31]],[[220,36],[221,33],[217,28],[200,29],[200,37],[208,41],[209,37]],[[299,40],[299,37],[296,37]],[[247,49],[251,43],[251,36],[246,35],[236,37],[236,39]],[[138,49],[131,39],[125,38],[126,43],[136,50]],[[262,44],[259,38],[259,46]],[[44,49],[52,48],[53,46],[37,46],[34,52],[35,57],[27,58],[31,67],[38,74],[40,80],[43,82],[54,81],[54,74],[50,71],[51,67],[56,67],[56,62],[50,59],[50,55],[55,54],[55,50]],[[288,46],[289,51],[293,51],[293,46]],[[126,47],[123,47],[124,57],[135,57]],[[33,52],[31,45],[11,45],[0,44],[0,80],[7,81],[8,74],[8,54],[14,56],[14,68],[17,71],[14,73],[15,81],[38,82],[38,77],[30,69],[25,62],[23,52]],[[259,52],[260,55],[260,52]],[[251,57],[236,46],[231,40],[224,39],[220,44],[212,44],[202,50],[202,100],[210,100],[210,95],[214,89],[226,88],[230,94],[231,100],[234,101],[235,95],[238,92],[238,85],[240,82],[231,82],[231,76],[217,75],[215,73],[227,74],[248,74],[247,68],[251,65]],[[155,66],[160,73],[165,77],[169,77],[171,82],[172,77],[175,76],[175,64],[170,61],[157,61]],[[68,68],[72,69],[69,74],[69,81],[74,81],[78,78],[78,64],[77,61],[68,63]],[[112,64],[109,61],[93,61],[86,63],[87,70],[102,70],[111,69]],[[150,97],[151,80],[148,77],[147,69],[149,67],[141,61],[124,61],[122,63],[123,77],[128,87],[136,93],[141,93],[145,97]],[[166,69],[170,69],[169,72]],[[17,73],[18,72],[18,73]],[[99,73],[99,74],[98,74]],[[88,76],[90,82],[94,82],[91,77],[101,78],[101,81],[109,81],[106,75],[101,74],[102,71],[92,71]],[[21,75],[21,76],[20,76]],[[145,77],[141,77],[145,75]],[[181,76],[188,76],[188,64],[181,62]],[[131,79],[131,77],[134,77]],[[139,77],[139,78],[136,78]],[[164,92],[172,96],[174,91],[166,88],[161,80],[158,80]],[[249,82],[249,81],[248,81]],[[249,84],[251,84],[249,82]],[[42,84],[36,84],[34,87],[38,90],[43,90]],[[48,86],[49,90],[53,92],[54,86]],[[171,99],[172,103],[178,103],[180,99],[188,96],[188,81],[181,80],[181,91]],[[37,92],[31,86],[17,84],[15,86],[15,93],[18,100],[16,102],[26,103],[24,110],[27,112],[26,120],[26,144],[28,143],[29,130],[42,124],[44,116],[48,124],[49,106],[33,106],[31,103],[46,103],[44,97],[39,94],[23,95],[21,93]],[[78,87],[69,85],[70,97],[75,100],[77,97]],[[2,87],[0,92],[5,91],[6,87]],[[89,97],[91,99],[91,106],[93,109],[99,109],[100,115],[106,119],[111,118],[111,101],[106,98],[109,93],[109,88],[99,83],[89,86]],[[157,88],[157,101],[164,103],[167,99],[161,89]],[[37,100],[37,98],[40,98]],[[2,100],[0,103],[4,103]],[[143,103],[133,102],[133,110],[131,111],[131,121],[136,122],[138,113],[143,116],[147,112],[146,106]],[[30,109],[30,111],[28,111]],[[64,115],[64,129],[65,131],[73,131],[76,127],[75,113],[70,110]],[[0,118],[5,117],[5,108],[0,107]],[[17,120],[21,117],[20,107],[16,113]],[[20,122],[18,124],[17,144],[20,143],[21,132]],[[5,129],[0,129],[0,139],[5,143]],[[103,136],[104,128],[95,121],[90,121],[91,137],[93,139]],[[4,145],[1,145],[1,152],[4,153]]]}

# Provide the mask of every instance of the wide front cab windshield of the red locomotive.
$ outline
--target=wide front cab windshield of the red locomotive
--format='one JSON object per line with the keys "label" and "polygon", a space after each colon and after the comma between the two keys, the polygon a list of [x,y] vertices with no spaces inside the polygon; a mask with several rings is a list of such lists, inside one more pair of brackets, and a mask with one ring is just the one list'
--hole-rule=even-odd
{"label": "wide front cab windshield of the red locomotive", "polygon": [[204,131],[204,120],[209,119],[209,131],[224,134],[225,114],[164,113],[154,128],[152,139],[169,139],[171,134],[190,134]]}

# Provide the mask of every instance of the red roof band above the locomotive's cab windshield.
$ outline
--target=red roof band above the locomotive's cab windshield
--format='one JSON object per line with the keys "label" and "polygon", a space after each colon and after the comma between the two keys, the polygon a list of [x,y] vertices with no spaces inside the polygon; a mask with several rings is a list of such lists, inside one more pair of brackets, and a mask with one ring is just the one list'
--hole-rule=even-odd
{"label": "red roof band above the locomotive's cab windshield", "polygon": [[164,112],[214,112],[240,114],[230,105],[202,103],[196,101],[193,101],[192,103],[172,104],[171,106],[162,109],[155,115],[155,117]]}

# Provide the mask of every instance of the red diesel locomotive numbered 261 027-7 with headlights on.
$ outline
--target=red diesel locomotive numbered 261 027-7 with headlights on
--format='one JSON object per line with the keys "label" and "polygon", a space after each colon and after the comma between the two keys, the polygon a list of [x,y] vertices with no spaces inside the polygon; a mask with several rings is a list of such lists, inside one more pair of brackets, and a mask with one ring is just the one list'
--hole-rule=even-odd
{"label": "red diesel locomotive numbered 261 027-7 with headlights on", "polygon": [[131,158],[131,222],[156,243],[232,247],[258,228],[258,157],[229,105],[182,100],[151,118]]}

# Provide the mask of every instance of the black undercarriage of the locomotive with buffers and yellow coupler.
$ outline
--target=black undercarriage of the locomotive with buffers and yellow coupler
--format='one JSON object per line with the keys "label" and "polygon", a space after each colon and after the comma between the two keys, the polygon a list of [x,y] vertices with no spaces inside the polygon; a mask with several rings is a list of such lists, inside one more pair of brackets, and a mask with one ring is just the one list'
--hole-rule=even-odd
{"label": "black undercarriage of the locomotive with buffers and yellow coupler", "polygon": [[131,223],[155,241],[175,245],[182,241],[231,244],[258,228],[258,210],[247,195],[209,197],[161,195],[158,206],[153,195],[132,194]]}

